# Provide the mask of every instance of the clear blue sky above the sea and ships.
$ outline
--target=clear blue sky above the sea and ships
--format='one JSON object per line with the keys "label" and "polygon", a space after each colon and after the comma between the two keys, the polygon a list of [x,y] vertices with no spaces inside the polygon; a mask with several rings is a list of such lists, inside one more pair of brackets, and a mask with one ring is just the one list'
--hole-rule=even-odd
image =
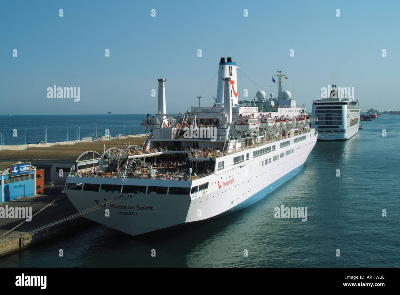
{"label": "clear blue sky above the sea and ships", "polygon": [[[309,110],[328,84],[354,87],[363,111],[400,110],[399,8],[398,1],[2,1],[0,115],[154,113],[158,78],[167,79],[167,111],[184,112],[228,56],[262,86],[282,68],[284,89]],[[258,90],[277,93],[240,73],[238,80],[240,99],[244,89],[250,99]],[[80,102],[47,98],[54,84],[80,87]],[[216,85],[214,78],[202,105],[214,103]]]}

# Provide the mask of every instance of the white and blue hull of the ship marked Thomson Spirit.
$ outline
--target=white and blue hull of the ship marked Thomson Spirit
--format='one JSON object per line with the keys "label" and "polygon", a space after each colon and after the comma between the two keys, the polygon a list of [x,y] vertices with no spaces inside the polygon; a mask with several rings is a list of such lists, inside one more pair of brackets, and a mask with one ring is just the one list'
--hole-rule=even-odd
{"label": "white and blue hull of the ship marked Thomson Spirit", "polygon": [[[100,178],[101,181],[123,185],[147,183],[168,187],[193,187],[209,183],[208,189],[191,195],[106,193],[74,189],[65,189],[65,191],[79,212],[93,207],[94,211],[85,213],[83,217],[130,235],[139,235],[182,223],[213,219],[256,203],[296,175],[314,148],[317,134],[318,132],[315,134],[309,132],[305,140],[296,143],[292,138],[290,146],[250,158],[249,161],[236,165],[233,169],[221,173],[217,171],[194,181],[124,179],[122,183],[122,179]],[[279,146],[279,142],[270,145],[272,144]],[[253,155],[253,150],[262,147],[243,152]],[[225,157],[233,156],[235,155]],[[275,157],[277,159],[273,160]],[[68,177],[67,183],[98,180],[97,177]],[[104,202],[106,204],[103,204]]]}

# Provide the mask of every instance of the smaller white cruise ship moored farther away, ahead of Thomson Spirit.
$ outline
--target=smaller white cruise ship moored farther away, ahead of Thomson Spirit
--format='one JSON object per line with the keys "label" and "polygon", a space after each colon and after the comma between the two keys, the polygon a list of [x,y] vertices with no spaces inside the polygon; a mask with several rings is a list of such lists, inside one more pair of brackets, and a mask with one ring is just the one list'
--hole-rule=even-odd
{"label": "smaller white cruise ship moored farther away, ahead of Thomson Spirit", "polygon": [[329,98],[314,100],[312,116],[318,121],[311,126],[318,131],[318,140],[348,140],[358,132],[360,104],[343,95],[338,97],[336,85],[332,85]]}

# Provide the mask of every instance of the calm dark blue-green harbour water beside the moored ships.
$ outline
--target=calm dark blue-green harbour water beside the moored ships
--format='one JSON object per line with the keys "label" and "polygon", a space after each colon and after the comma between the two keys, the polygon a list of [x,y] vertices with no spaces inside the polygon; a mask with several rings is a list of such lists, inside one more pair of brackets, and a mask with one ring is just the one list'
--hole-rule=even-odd
{"label": "calm dark blue-green harbour water beside the moored ships", "polygon": [[[361,123],[346,142],[317,142],[298,175],[240,212],[140,237],[97,225],[0,266],[400,267],[400,116]],[[275,219],[281,205],[307,207],[308,220]]]}

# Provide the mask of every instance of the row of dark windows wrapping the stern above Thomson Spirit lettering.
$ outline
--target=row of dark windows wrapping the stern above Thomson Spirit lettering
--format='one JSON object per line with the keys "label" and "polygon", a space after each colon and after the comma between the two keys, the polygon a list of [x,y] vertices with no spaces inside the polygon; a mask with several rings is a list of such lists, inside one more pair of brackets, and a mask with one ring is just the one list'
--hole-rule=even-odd
{"label": "row of dark windows wrapping the stern above Thomson Spirit lettering", "polygon": [[[82,189],[83,187],[83,189]],[[99,183],[67,183],[66,189],[83,190],[83,191],[101,191],[108,193],[120,193],[122,188],[122,193],[146,193],[147,194],[161,194],[166,195],[189,195],[189,187],[168,187],[166,186],[151,186],[146,185],[120,185],[120,184],[102,184],[100,187]],[[203,189],[208,189],[208,182],[201,185],[192,187],[191,193],[196,193],[197,191],[202,191]]]}

